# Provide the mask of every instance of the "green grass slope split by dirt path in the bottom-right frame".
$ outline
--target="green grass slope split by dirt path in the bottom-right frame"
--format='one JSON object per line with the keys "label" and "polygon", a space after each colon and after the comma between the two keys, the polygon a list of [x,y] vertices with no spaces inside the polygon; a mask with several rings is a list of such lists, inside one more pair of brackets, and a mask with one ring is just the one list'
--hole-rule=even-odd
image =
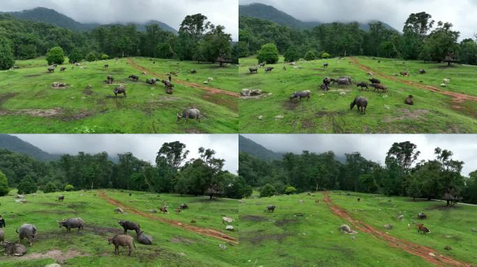
{"label": "green grass slope split by dirt path in the bottom-right frame", "polygon": [[[413,202],[408,197],[385,197],[330,192],[331,201],[359,220],[388,236],[424,245],[437,257],[477,264],[477,207],[458,204],[447,209],[445,202]],[[357,202],[357,197],[361,201]],[[357,229],[351,238],[338,228],[342,224],[356,229],[345,218],[335,215],[324,201],[323,193],[251,198],[239,204],[241,266],[435,266],[399,247],[393,247]],[[303,203],[299,201],[303,200]],[[315,200],[320,200],[315,204]],[[388,200],[391,200],[389,202]],[[268,213],[268,204],[275,204]],[[427,220],[419,220],[431,234],[418,234],[414,221],[419,211]],[[399,213],[404,214],[398,220]],[[411,229],[407,224],[411,224]],[[392,224],[393,229],[383,225]],[[444,250],[450,245],[452,250]],[[428,256],[431,257],[431,256]],[[444,266],[444,265],[441,265]]]}

